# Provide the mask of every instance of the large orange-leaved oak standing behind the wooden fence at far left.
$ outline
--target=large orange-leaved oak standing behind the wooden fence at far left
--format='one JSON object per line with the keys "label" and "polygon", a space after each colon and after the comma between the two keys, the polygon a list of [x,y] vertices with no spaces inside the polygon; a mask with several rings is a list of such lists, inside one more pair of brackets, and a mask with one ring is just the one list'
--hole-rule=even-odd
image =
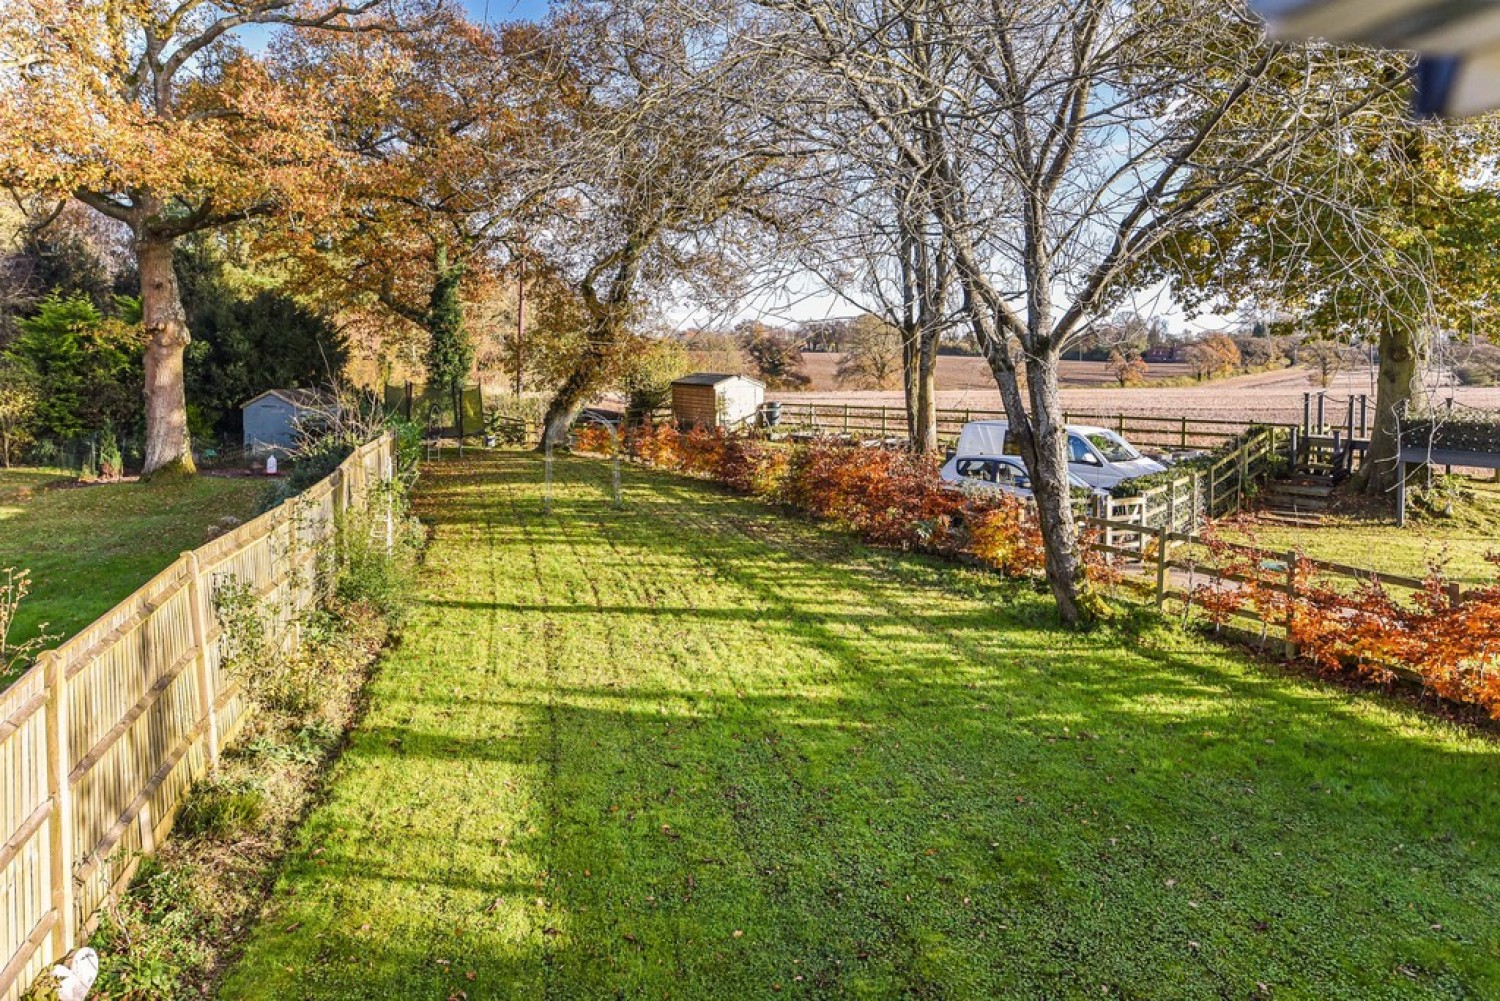
{"label": "large orange-leaved oak standing behind the wooden fence at far left", "polygon": [[282,212],[340,174],[326,95],[288,86],[248,29],[362,32],[394,0],[8,0],[0,182],[129,227],[146,330],[146,474],[194,468],[172,245]]}

